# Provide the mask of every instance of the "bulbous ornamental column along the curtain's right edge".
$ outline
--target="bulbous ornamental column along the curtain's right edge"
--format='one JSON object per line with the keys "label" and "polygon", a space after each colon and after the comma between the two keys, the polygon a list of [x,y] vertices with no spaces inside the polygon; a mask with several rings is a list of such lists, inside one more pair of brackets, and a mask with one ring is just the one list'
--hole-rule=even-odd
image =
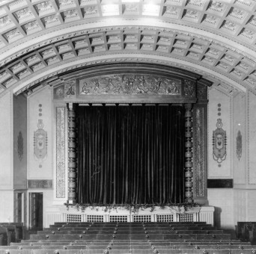
{"label": "bulbous ornamental column along the curtain's right edge", "polygon": [[185,201],[193,202],[192,189],[192,104],[185,104]]}

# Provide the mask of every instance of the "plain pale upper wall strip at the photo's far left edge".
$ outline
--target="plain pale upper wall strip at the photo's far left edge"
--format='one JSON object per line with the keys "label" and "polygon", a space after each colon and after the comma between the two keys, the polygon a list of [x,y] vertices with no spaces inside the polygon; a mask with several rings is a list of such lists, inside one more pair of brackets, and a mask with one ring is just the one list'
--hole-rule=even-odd
{"label": "plain pale upper wall strip at the photo's far left edge", "polygon": [[[0,190],[13,189],[13,95],[0,98]],[[1,201],[0,201],[1,202]],[[1,215],[0,209],[0,215]],[[1,218],[1,216],[0,216]]]}

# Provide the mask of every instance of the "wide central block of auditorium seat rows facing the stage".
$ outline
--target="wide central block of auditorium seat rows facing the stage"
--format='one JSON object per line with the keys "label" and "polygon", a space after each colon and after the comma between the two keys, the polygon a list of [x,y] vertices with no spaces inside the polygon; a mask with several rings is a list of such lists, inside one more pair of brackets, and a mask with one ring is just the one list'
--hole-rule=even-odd
{"label": "wide central block of auditorium seat rows facing the stage", "polygon": [[203,222],[55,223],[29,240],[0,246],[0,254],[256,253]]}

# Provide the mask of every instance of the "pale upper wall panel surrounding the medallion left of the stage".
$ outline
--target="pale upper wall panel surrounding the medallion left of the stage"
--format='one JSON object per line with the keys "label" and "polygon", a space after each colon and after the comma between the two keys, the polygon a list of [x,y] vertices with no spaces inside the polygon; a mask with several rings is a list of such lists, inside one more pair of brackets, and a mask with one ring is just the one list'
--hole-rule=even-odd
{"label": "pale upper wall panel surrounding the medallion left of the stage", "polygon": [[[40,108],[42,111],[39,111]],[[37,131],[39,119],[43,120],[43,130],[47,132],[48,140],[47,155],[43,161],[39,161],[34,156],[34,131]],[[28,98],[28,179],[52,179],[52,89],[50,87],[45,87]]]}

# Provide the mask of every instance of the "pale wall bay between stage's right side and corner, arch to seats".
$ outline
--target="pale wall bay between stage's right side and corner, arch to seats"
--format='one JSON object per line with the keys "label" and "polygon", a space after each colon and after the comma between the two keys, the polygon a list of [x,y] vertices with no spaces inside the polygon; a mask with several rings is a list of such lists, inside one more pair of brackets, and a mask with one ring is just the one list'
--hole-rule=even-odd
{"label": "pale wall bay between stage's right side and corner, arch to seats", "polygon": [[[225,186],[226,179],[233,180],[232,96],[213,87],[209,89],[208,98],[208,200],[209,205],[215,207],[215,226],[234,229],[234,190],[232,186]],[[218,120],[226,131],[226,155],[216,161],[216,154],[213,156],[213,131],[218,128]],[[219,183],[224,183],[224,186]]]}

